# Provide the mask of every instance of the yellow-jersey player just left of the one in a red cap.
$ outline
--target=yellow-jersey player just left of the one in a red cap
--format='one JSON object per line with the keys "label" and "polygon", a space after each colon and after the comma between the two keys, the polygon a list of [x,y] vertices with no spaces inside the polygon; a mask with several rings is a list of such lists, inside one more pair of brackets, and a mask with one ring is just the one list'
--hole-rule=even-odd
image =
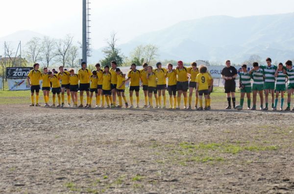
{"label": "yellow-jersey player just left of the one in a red cap", "polygon": [[[176,70],[172,68],[172,64],[168,64],[168,72],[166,73],[168,78],[168,91],[170,95],[170,109],[176,108]],[[173,98],[173,103],[172,103]]]}

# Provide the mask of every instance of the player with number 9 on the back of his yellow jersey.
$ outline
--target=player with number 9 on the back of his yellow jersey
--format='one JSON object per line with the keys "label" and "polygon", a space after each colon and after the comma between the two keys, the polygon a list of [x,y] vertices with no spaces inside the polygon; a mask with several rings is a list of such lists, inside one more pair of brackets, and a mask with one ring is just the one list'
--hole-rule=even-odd
{"label": "player with number 9 on the back of his yellow jersey", "polygon": [[208,101],[207,101],[207,96],[209,91],[211,91],[212,84],[211,86],[208,87],[209,83],[213,82],[211,79],[210,75],[207,73],[207,67],[204,65],[200,65],[199,67],[199,74],[196,76],[196,91],[199,93],[199,108],[197,110],[203,110],[202,107],[202,96],[204,94],[204,99],[205,99],[205,110],[208,110]]}

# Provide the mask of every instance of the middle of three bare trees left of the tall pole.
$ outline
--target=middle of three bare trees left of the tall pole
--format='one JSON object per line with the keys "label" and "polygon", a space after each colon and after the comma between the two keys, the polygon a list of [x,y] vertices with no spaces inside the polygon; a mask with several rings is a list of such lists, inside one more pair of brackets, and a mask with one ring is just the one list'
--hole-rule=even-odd
{"label": "middle of three bare trees left of the tall pole", "polygon": [[55,55],[55,40],[44,36],[42,41],[41,55],[46,67],[49,67],[50,62]]}

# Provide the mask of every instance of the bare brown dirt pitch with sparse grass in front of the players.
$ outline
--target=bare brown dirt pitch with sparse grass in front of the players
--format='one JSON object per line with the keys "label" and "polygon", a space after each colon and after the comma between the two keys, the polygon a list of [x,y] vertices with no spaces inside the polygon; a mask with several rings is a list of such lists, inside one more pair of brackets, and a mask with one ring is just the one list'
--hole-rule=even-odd
{"label": "bare brown dirt pitch with sparse grass in front of the players", "polygon": [[294,112],[0,105],[0,193],[293,194]]}

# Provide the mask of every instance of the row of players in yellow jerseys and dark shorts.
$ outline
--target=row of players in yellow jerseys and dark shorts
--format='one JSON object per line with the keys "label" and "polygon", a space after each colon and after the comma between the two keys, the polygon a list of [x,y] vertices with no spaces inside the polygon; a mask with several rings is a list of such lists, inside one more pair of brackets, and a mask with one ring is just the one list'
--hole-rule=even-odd
{"label": "row of players in yellow jerseys and dark shorts", "polygon": [[[192,108],[192,96],[196,95],[195,108],[210,109],[210,93],[213,89],[213,79],[207,72],[207,67],[200,65],[199,69],[194,62],[191,67],[185,67],[182,61],[178,61],[176,68],[173,68],[172,64],[168,64],[167,68],[163,68],[159,62],[156,64],[156,69],[152,66],[143,64],[143,69],[137,70],[136,64],[131,65],[131,70],[125,74],[117,67],[115,61],[111,62],[111,68],[106,65],[104,69],[99,64],[96,65],[96,70],[90,71],[86,68],[86,63],[82,62],[81,69],[77,73],[74,73],[74,69],[65,71],[62,66],[59,67],[59,72],[54,73],[48,71],[45,67],[43,73],[39,70],[39,64],[34,64],[28,76],[27,82],[31,86],[31,101],[30,106],[40,106],[39,100],[39,80],[42,80],[42,90],[44,94],[45,106],[49,106],[49,91],[50,87],[52,92],[52,106],[55,106],[56,94],[58,98],[57,107],[63,107],[65,105],[64,96],[67,92],[68,105],[71,106],[71,99],[73,101],[73,107],[83,106],[83,93],[86,92],[87,108],[92,107],[92,99],[96,98],[96,108],[104,108],[106,101],[106,108],[122,108],[123,100],[125,108],[128,108],[128,103],[124,95],[125,83],[130,81],[129,84],[129,100],[130,108],[133,108],[133,93],[136,95],[136,108],[139,108],[139,90],[140,81],[143,87],[145,105],[144,108],[153,108],[152,93],[155,97],[155,108],[166,108],[166,90],[169,92],[170,107],[173,109],[179,109],[181,103],[181,96],[184,97],[184,108]],[[168,83],[166,81],[168,78]],[[188,81],[190,79],[190,82]],[[61,84],[60,84],[61,81]],[[189,89],[189,106],[187,91]],[[80,105],[77,106],[77,92],[80,91]],[[36,98],[34,99],[34,93],[36,92]],[[61,93],[61,96],[60,96]],[[204,95],[205,106],[203,108],[202,96]],[[119,99],[119,105],[116,106],[116,98]],[[34,101],[36,100],[36,102]],[[163,100],[163,106],[162,106]],[[102,102],[101,102],[102,101]],[[199,101],[199,108],[198,106]],[[100,105],[101,102],[101,105]]]}

